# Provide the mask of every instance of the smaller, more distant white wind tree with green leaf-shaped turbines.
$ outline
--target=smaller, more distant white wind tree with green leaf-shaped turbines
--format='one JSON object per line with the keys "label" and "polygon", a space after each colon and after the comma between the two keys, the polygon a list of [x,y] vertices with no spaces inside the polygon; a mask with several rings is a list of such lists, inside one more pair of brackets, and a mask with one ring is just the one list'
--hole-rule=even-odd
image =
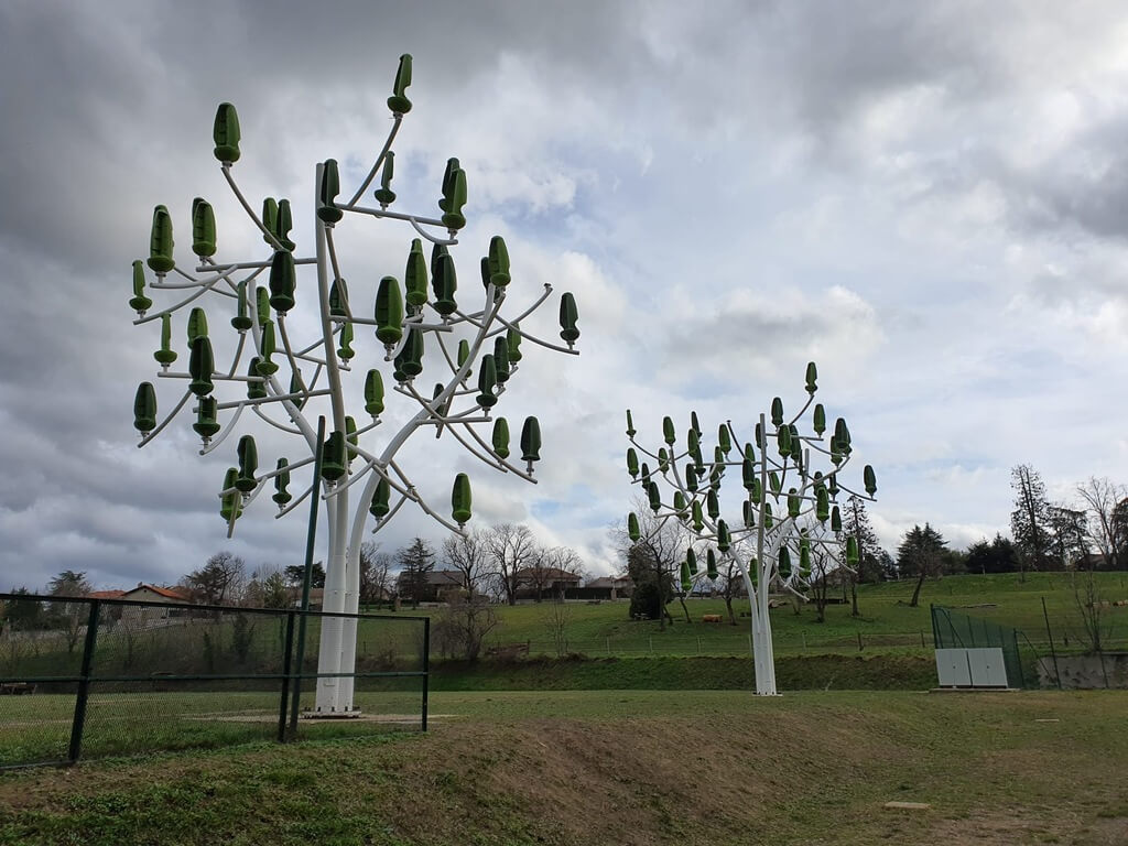
{"label": "smaller, more distant white wind tree with green leaf-shaped turbines", "polygon": [[[715,581],[720,566],[731,566],[743,579],[751,606],[752,658],[756,693],[775,695],[775,656],[768,596],[773,590],[792,593],[803,600],[812,587],[812,562],[825,573],[828,559],[836,566],[857,567],[857,541],[844,537],[837,504],[841,492],[873,500],[876,479],[865,466],[865,494],[839,482],[851,461],[853,448],[846,421],[835,422],[829,438],[827,415],[814,403],[818,371],[807,365],[807,403],[793,417],[784,416],[783,400],[772,400],[770,415],[760,415],[754,437],[739,448],[740,439],[731,421],[717,429],[712,460],[705,459],[705,444],[696,412],[690,415],[684,448],[670,417],[662,421],[664,447],[649,450],[635,440],[635,428],[627,411],[627,472],[633,484],[646,495],[653,520],[640,521],[627,515],[627,534],[634,543],[643,541],[642,525],[660,530],[673,521],[689,538],[680,566],[680,588],[689,593],[699,579]],[[813,406],[813,407],[812,407]],[[800,422],[810,412],[810,430]],[[812,458],[813,455],[813,458]],[[640,456],[643,459],[640,461]],[[822,469],[814,469],[818,460]],[[654,464],[651,465],[650,462]],[[721,515],[721,487],[739,473],[741,504],[739,519]],[[702,566],[704,564],[704,567]]]}

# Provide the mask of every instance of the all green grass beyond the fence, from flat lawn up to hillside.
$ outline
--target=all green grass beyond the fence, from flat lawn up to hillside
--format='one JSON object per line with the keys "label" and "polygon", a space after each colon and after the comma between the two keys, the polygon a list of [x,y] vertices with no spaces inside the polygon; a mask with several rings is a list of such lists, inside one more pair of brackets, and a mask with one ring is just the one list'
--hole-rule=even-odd
{"label": "all green grass beyond the fence, from flat lawn up to hillside", "polygon": [[[1104,596],[1120,598],[1125,584],[1122,574],[1099,574],[1099,579]],[[863,587],[861,617],[851,617],[848,606],[830,606],[823,624],[813,622],[810,608],[803,608],[797,615],[790,607],[775,609],[773,625],[781,689],[931,687],[935,669],[927,601],[1017,626],[1045,653],[1045,634],[1038,637],[1038,627],[1045,631],[1041,610],[1045,597],[1058,649],[1066,651],[1063,647],[1070,634],[1066,649],[1077,651],[1082,646],[1076,635],[1079,615],[1068,575],[1038,573],[1025,581],[1016,575],[948,578],[927,583],[925,603],[919,608],[907,605],[911,588],[905,582]],[[497,609],[501,625],[494,633],[494,643],[528,642],[530,659],[481,664],[435,661],[431,687],[438,691],[749,689],[754,677],[748,659],[747,625],[702,623],[702,615],[722,610],[719,600],[690,599],[687,605],[694,622],[686,624],[679,619],[666,631],[660,631],[656,623],[627,619],[625,602],[566,605],[563,613],[567,652],[587,655],[588,660],[581,661],[555,656],[548,629],[561,610],[558,607],[547,603],[502,607]],[[680,608],[673,603],[671,610]],[[442,611],[421,609],[421,613]],[[1107,609],[1105,619],[1110,642],[1125,642],[1128,608],[1111,607]],[[206,693],[201,689],[202,685],[196,685],[194,693],[194,682],[160,678],[160,673],[168,671],[205,671],[208,661],[214,662],[215,669],[222,672],[280,671],[282,632],[276,620],[262,618],[256,623],[245,660],[238,660],[231,652],[232,633],[230,622],[193,620],[142,633],[132,643],[125,641],[121,628],[99,634],[99,650],[94,662],[96,675],[124,675],[132,670],[136,675],[156,672],[157,676],[148,681],[94,686],[83,755],[99,757],[125,751],[220,747],[273,737],[279,707],[276,680],[205,682]],[[316,627],[311,635],[307,661],[310,670],[314,669]],[[397,660],[412,663],[417,661],[417,635],[418,627],[409,624],[405,627],[367,622],[359,633],[359,654],[368,655],[379,666],[394,664]],[[131,653],[125,651],[126,646]],[[24,656],[25,671],[30,667],[42,675],[52,675],[52,669],[69,667],[76,660],[73,654],[52,647],[50,642],[36,645],[36,650],[34,655]],[[127,654],[132,654],[132,663],[125,660]],[[627,658],[616,658],[622,655]],[[1033,656],[1033,650],[1024,649],[1022,658],[1028,672]],[[0,664],[0,676],[6,669]],[[247,689],[256,685],[258,693]],[[365,686],[359,702],[365,711],[418,714],[416,680],[373,679],[362,685]],[[32,697],[0,697],[0,766],[65,757],[73,698],[44,695],[46,690],[50,686]],[[303,705],[309,698],[307,695]],[[341,733],[370,732],[373,728],[379,726],[329,729],[310,725],[308,730]]]}

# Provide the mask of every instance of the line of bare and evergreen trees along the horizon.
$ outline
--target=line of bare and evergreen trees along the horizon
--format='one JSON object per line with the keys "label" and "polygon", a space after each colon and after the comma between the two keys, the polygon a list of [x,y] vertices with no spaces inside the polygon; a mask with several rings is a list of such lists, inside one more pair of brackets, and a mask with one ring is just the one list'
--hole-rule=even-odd
{"label": "line of bare and evergreen trees along the horizon", "polygon": [[[860,561],[849,573],[834,559],[812,562],[810,597],[817,619],[825,617],[831,601],[851,605],[860,615],[857,585],[885,580],[916,581],[910,605],[919,601],[929,578],[963,573],[1019,573],[1046,570],[1126,570],[1128,569],[1128,488],[1109,478],[1091,477],[1076,486],[1073,502],[1051,501],[1039,473],[1030,465],[1017,465],[1011,472],[1014,506],[1010,537],[997,532],[982,538],[966,550],[952,549],[948,540],[929,522],[915,525],[906,531],[896,554],[882,548],[866,512],[865,502],[851,497],[843,508],[843,531],[853,536]],[[645,514],[645,508],[638,513]],[[620,556],[620,574],[634,585],[629,606],[632,616],[672,620],[668,606],[680,600],[688,619],[685,597],[676,590],[677,571],[685,556],[685,541],[676,532],[643,532],[645,544],[633,544],[626,531],[613,532]],[[574,549],[540,544],[532,531],[521,523],[497,523],[466,535],[451,534],[435,545],[414,538],[394,552],[367,541],[360,555],[360,602],[373,607],[394,602],[417,606],[434,597],[431,573],[447,571],[443,587],[447,593],[461,591],[466,597],[481,597],[493,602],[514,605],[518,593],[527,591],[535,599],[558,598],[553,585],[561,574],[582,576],[583,562]],[[722,569],[712,583],[711,592],[725,601],[731,622],[735,622],[733,601],[743,596],[741,578]],[[177,587],[192,601],[262,608],[292,607],[300,591],[305,569],[300,564],[276,566],[262,564],[248,567],[238,555],[220,552],[210,556],[199,569],[182,576]],[[325,587],[325,570],[316,563],[311,587]],[[17,593],[29,593],[20,588]],[[46,585],[45,593],[56,597],[80,597],[92,592],[85,572],[63,571]],[[41,609],[42,610],[42,609]],[[8,609],[8,614],[20,614]],[[27,614],[39,613],[36,609]],[[64,625],[63,615],[54,623]]]}

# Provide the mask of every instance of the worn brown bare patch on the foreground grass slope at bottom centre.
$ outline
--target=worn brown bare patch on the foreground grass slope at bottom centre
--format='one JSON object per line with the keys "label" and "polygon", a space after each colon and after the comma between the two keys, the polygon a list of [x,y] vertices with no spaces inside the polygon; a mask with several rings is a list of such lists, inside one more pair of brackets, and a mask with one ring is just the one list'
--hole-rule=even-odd
{"label": "worn brown bare patch on the foreground grass slope at bottom centre", "polygon": [[457,843],[466,826],[488,825],[483,811],[500,801],[547,843],[788,843],[778,837],[781,804],[802,802],[812,781],[848,779],[883,751],[860,749],[845,726],[812,735],[791,722],[778,714],[746,725],[706,717],[441,726],[429,756],[402,777],[438,783],[461,801],[434,814],[433,797],[407,797],[393,823],[424,841]]}

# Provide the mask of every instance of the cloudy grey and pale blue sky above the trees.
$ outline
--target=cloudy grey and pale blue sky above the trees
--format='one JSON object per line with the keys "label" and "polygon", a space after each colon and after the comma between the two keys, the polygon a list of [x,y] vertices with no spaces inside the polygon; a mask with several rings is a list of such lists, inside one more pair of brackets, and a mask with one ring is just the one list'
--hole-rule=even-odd
{"label": "cloudy grey and pale blue sky above the trees", "polygon": [[[266,497],[226,538],[215,493],[235,439],[201,458],[184,413],[136,449],[133,393],[158,335],[132,325],[130,264],[164,203],[191,265],[197,195],[215,205],[220,261],[268,257],[211,153],[223,100],[243,124],[240,187],[255,205],[290,197],[308,255],[314,167],[336,158],[351,194],[404,52],[415,107],[395,208],[435,213],[458,156],[467,296],[502,233],[513,305],[545,282],[573,291],[583,333],[579,358],[528,349],[499,406],[514,426],[539,415],[538,485],[447,439],[409,444],[400,466],[441,511],[470,472],[475,525],[526,521],[610,571],[607,529],[632,496],[624,409],[655,447],[663,414],[748,431],[773,396],[802,400],[811,359],[819,398],[878,470],[890,548],[926,520],[953,546],[1005,531],[1020,462],[1063,500],[1091,475],[1126,482],[1126,45],[1116,0],[9,0],[0,589],[64,569],[98,587],[173,582],[223,549],[301,559],[305,513],[275,520]],[[354,301],[402,273],[412,236],[345,220]],[[232,335],[215,306],[213,335]],[[553,337],[555,298],[544,310],[526,328]],[[367,331],[356,347],[377,362]],[[162,411],[178,399],[166,382]],[[405,413],[389,407],[362,444],[379,451]],[[300,451],[263,433],[261,464]],[[416,535],[444,531],[405,509],[377,539]]]}

